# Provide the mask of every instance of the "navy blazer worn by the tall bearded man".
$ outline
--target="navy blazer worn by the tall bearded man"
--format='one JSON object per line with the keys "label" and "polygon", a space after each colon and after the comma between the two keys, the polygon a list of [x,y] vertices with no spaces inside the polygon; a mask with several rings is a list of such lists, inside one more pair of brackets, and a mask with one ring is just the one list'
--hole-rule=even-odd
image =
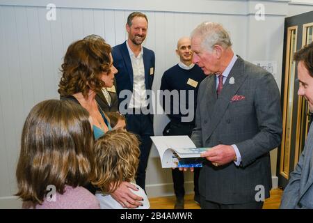
{"label": "navy blazer worn by the tall bearded man", "polygon": [[[112,56],[113,65],[116,69],[118,69],[118,73],[115,75],[115,80],[118,87],[118,104],[120,105],[122,100],[125,99],[120,98],[120,92],[122,90],[129,90],[132,93],[134,85],[134,73],[131,66],[131,59],[127,49],[126,41],[113,47]],[[145,47],[143,47],[143,64],[145,67],[145,89],[151,90],[154,78],[155,57],[154,52]],[[127,97],[127,105],[129,105],[129,100],[130,97]],[[151,102],[150,105],[152,105]]]}

